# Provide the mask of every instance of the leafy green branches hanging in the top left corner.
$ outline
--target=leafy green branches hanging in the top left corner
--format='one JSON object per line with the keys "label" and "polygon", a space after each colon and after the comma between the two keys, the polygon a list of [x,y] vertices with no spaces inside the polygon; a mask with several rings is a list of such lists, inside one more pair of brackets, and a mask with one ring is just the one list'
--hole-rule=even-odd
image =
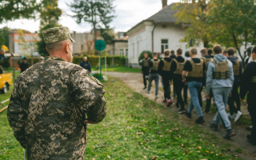
{"label": "leafy green branches hanging in the top left corner", "polygon": [[41,3],[40,0],[2,0],[0,23],[18,18],[35,18]]}

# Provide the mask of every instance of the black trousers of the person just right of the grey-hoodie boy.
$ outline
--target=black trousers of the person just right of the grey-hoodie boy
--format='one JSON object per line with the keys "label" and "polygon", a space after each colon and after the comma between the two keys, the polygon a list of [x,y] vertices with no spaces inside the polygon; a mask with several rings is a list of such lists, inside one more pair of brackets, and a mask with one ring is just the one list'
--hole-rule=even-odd
{"label": "black trousers of the person just right of the grey-hoodie boy", "polygon": [[[238,110],[241,110],[241,102],[238,94],[238,87],[240,86],[240,82],[234,82],[233,89],[231,92],[231,97],[229,97],[227,104],[230,107],[230,114],[238,113]],[[234,102],[237,107],[234,106]]]}

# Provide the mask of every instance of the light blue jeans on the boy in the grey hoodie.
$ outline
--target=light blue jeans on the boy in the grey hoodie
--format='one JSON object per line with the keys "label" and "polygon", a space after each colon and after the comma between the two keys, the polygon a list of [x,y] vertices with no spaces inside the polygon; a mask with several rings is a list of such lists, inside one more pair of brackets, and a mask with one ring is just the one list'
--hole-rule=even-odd
{"label": "light blue jeans on the boy in the grey hoodie", "polygon": [[214,102],[217,106],[217,114],[214,117],[214,123],[219,124],[222,122],[226,129],[231,129],[230,120],[226,114],[226,103],[229,98],[231,88],[213,88]]}

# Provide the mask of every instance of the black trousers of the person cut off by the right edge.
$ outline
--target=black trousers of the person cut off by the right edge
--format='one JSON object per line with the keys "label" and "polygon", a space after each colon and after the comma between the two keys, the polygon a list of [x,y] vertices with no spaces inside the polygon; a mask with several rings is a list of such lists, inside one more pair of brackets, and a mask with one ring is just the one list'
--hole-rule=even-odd
{"label": "black trousers of the person cut off by the right edge", "polygon": [[247,94],[248,110],[251,116],[253,130],[251,131],[251,141],[256,142],[256,95]]}

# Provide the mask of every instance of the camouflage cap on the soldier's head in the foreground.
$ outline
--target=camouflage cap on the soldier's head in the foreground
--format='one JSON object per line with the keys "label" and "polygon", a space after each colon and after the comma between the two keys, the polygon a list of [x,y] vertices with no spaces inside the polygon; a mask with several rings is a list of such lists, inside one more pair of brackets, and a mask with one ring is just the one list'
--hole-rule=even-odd
{"label": "camouflage cap on the soldier's head in the foreground", "polygon": [[66,26],[42,30],[42,37],[44,38],[46,44],[61,42],[66,39],[70,39],[72,42],[75,42],[74,39],[70,37],[70,30]]}

